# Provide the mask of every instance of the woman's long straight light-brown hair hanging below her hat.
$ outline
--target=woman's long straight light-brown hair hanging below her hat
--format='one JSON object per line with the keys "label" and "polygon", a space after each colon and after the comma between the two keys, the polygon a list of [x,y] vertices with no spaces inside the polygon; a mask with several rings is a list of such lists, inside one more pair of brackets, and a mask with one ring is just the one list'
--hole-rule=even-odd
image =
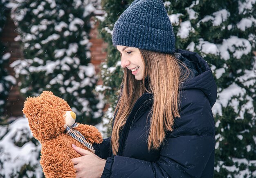
{"label": "woman's long straight light-brown hair hanging below her hat", "polygon": [[[166,131],[173,130],[174,118],[180,117],[179,87],[180,82],[189,76],[189,69],[177,60],[174,54],[144,49],[139,49],[139,51],[145,66],[144,76],[148,76],[148,88],[145,87],[145,78],[136,80],[131,71],[124,68],[123,90],[114,112],[116,113],[118,109],[111,137],[114,155],[117,154],[119,148],[119,131],[124,127],[136,100],[143,93],[153,93],[153,106],[149,113],[152,115],[148,151],[160,147]],[[184,76],[181,76],[182,66],[188,71]]]}

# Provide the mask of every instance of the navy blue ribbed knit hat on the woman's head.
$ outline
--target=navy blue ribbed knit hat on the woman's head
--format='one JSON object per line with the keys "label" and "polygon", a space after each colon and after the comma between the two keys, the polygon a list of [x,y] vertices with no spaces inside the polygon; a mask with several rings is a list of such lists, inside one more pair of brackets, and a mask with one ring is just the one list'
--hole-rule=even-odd
{"label": "navy blue ribbed knit hat on the woman's head", "polygon": [[162,0],[135,0],[115,22],[114,46],[174,53],[173,26]]}

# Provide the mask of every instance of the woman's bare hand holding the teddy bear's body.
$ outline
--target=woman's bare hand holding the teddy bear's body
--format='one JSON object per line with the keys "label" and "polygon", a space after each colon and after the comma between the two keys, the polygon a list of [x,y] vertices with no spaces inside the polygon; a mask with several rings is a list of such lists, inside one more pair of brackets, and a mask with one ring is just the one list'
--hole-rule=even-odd
{"label": "woman's bare hand holding the teddy bear's body", "polygon": [[77,147],[74,144],[72,144],[72,148],[82,155],[81,157],[71,159],[74,163],[74,168],[76,169],[76,178],[100,178],[106,160],[101,159],[92,152]]}

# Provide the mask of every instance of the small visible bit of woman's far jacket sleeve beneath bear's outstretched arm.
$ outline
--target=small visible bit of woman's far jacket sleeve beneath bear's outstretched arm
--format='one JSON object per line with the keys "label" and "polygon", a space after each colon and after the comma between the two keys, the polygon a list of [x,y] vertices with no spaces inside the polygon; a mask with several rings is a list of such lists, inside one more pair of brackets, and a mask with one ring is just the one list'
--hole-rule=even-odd
{"label": "small visible bit of woman's far jacket sleeve beneath bear's outstretched arm", "polygon": [[100,144],[92,144],[97,156],[105,160],[110,156],[110,140],[111,137],[103,139],[103,142]]}

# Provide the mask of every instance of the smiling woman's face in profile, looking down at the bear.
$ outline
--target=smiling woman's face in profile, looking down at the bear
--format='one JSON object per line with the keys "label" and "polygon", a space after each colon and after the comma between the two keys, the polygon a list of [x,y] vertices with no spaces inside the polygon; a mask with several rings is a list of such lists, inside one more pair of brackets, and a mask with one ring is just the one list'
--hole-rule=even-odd
{"label": "smiling woman's face in profile, looking down at the bear", "polygon": [[117,45],[121,54],[121,67],[127,67],[136,80],[144,78],[144,63],[138,48]]}

